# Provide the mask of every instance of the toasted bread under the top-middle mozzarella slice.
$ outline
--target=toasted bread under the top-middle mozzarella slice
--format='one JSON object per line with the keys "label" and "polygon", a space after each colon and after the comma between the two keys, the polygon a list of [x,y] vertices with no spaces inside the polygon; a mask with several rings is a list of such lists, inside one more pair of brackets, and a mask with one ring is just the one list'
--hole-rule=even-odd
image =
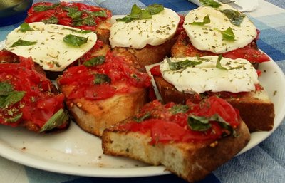
{"label": "toasted bread under the top-middle mozzarella slice", "polygon": [[142,66],[147,66],[153,63],[159,63],[163,61],[165,56],[170,56],[171,48],[176,40],[177,37],[174,37],[161,45],[147,45],[142,49],[115,47],[113,51],[118,54],[123,54],[124,56],[135,58]]}

